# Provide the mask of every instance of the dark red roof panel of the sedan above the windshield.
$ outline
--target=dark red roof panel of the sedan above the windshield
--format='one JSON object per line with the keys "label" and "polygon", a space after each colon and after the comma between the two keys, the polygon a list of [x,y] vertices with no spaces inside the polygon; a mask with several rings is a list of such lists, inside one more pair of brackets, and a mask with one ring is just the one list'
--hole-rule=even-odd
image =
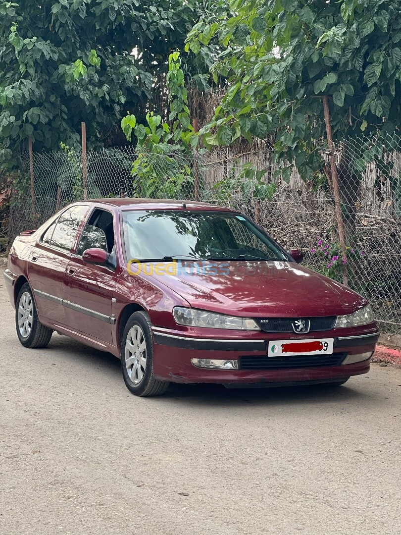
{"label": "dark red roof panel of the sedan above the windshield", "polygon": [[235,212],[227,207],[198,201],[180,201],[176,199],[146,199],[146,198],[102,198],[85,201],[93,204],[107,204],[122,210],[217,210]]}

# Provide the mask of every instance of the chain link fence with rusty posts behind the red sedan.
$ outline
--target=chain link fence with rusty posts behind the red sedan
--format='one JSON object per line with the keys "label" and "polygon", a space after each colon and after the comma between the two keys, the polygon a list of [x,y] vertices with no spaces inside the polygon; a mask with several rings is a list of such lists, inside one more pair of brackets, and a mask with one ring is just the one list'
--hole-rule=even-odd
{"label": "chain link fence with rusty posts behind the red sedan", "polygon": [[[36,227],[65,204],[88,198],[143,197],[199,200],[240,210],[284,248],[304,251],[304,264],[349,286],[372,302],[382,330],[401,332],[401,139],[397,133],[344,141],[335,149],[332,176],[327,147],[316,150],[326,165],[309,180],[277,169],[268,143],[243,150],[217,148],[187,154],[134,148],[21,155],[21,184],[11,202],[9,241]],[[238,154],[239,152],[239,154]],[[338,238],[335,181],[344,240]],[[85,182],[85,183],[84,183]]]}

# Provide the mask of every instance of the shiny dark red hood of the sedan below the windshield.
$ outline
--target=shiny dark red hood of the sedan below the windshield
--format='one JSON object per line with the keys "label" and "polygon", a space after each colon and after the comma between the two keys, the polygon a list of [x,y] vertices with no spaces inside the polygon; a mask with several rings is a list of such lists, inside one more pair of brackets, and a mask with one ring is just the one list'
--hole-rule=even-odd
{"label": "shiny dark red hood of the sedan below the windshield", "polygon": [[185,265],[172,274],[153,272],[151,278],[193,308],[259,317],[311,317],[351,314],[367,304],[349,288],[292,262],[227,262],[223,273],[217,274],[210,273],[216,263],[203,262],[201,269]]}

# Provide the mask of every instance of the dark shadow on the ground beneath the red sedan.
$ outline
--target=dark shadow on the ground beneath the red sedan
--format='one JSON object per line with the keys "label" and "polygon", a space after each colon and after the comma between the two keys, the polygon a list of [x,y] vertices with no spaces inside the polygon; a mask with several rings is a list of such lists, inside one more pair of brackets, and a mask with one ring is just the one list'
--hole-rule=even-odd
{"label": "dark shadow on the ground beneath the red sedan", "polygon": [[[103,373],[111,373],[113,379],[121,384],[121,389],[126,388],[121,377],[120,360],[110,353],[104,353],[97,349],[83,345],[80,342],[67,337],[54,336],[49,344],[49,350],[63,351],[63,358],[70,362],[80,362],[93,368],[96,364],[98,370]],[[134,399],[137,399],[133,396]],[[143,399],[143,398],[142,398]],[[360,385],[360,377],[351,378],[342,386],[330,386],[327,384],[310,386],[283,386],[283,387],[257,387],[257,388],[225,388],[223,385],[214,384],[178,384],[171,383],[167,392],[157,398],[146,398],[152,403],[185,402],[215,407],[244,407],[261,405],[286,405],[300,403],[312,405],[317,403],[349,403],[367,402],[376,403],[376,395],[372,391],[365,391]]]}

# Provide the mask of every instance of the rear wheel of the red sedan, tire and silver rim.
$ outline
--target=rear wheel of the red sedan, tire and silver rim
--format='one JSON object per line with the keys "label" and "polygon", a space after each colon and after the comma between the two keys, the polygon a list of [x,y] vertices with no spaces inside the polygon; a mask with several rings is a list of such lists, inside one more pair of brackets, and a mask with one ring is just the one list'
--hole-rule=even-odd
{"label": "rear wheel of the red sedan, tire and silver rim", "polygon": [[29,348],[46,347],[53,331],[41,324],[28,282],[21,286],[16,303],[16,328],[21,344]]}

